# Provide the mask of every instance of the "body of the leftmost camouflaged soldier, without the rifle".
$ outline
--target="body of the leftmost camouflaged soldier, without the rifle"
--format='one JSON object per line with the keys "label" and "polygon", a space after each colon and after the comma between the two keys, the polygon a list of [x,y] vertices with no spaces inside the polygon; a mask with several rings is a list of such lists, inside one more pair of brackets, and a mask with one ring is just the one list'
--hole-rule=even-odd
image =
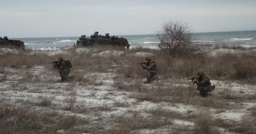
{"label": "body of the leftmost camouflaged soldier, without the rifle", "polygon": [[69,75],[69,73],[71,72],[71,69],[69,68],[69,65],[67,64],[67,62],[62,58],[58,58],[58,70],[60,72],[60,78],[61,78],[61,82],[65,82],[67,81],[67,76]]}

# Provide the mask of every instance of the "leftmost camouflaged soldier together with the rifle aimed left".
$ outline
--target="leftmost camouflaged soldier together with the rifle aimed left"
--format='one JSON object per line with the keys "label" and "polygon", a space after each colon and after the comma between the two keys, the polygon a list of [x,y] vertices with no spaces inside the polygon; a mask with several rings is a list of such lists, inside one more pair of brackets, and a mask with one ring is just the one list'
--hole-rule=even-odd
{"label": "leftmost camouflaged soldier together with the rifle aimed left", "polygon": [[60,78],[61,82],[66,82],[68,81],[68,75],[71,72],[71,62],[70,61],[65,61],[62,57],[58,58],[58,61],[53,61],[54,67],[59,70],[60,73]]}

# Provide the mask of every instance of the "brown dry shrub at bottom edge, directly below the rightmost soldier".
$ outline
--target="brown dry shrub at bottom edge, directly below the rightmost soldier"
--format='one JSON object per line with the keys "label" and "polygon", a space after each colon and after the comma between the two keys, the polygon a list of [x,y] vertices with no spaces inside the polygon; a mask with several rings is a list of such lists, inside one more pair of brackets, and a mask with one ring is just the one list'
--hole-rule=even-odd
{"label": "brown dry shrub at bottom edge, directly below the rightmost soldier", "polygon": [[200,112],[194,122],[194,133],[196,134],[217,134],[220,131],[213,127],[213,118],[210,113]]}

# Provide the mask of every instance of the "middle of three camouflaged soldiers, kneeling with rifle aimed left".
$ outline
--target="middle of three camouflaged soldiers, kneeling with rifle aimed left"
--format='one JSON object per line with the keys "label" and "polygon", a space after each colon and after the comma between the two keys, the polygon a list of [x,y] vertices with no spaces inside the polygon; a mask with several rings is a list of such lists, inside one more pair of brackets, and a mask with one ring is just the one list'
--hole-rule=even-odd
{"label": "middle of three camouflaged soldiers, kneeling with rifle aimed left", "polygon": [[140,63],[144,70],[147,70],[147,80],[144,83],[151,83],[154,80],[158,80],[156,63],[151,61],[151,58],[145,58],[145,62]]}

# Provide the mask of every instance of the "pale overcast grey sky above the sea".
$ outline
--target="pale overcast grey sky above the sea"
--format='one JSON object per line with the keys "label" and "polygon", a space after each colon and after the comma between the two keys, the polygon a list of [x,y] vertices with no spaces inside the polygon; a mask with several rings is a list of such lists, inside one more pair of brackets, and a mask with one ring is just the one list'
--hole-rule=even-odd
{"label": "pale overcast grey sky above the sea", "polygon": [[154,34],[170,20],[192,32],[256,30],[256,1],[0,0],[0,37]]}

